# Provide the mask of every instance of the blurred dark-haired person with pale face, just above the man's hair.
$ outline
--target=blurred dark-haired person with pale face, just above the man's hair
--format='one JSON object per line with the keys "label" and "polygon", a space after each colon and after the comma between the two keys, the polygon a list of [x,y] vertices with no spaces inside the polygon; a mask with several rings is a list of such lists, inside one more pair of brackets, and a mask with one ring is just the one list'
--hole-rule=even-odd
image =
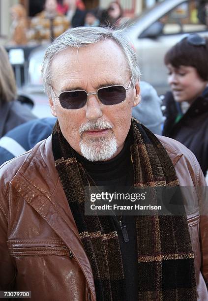
{"label": "blurred dark-haired person with pale face, just above the man's hair", "polygon": [[119,2],[113,1],[110,3],[107,10],[103,10],[100,17],[102,26],[118,27],[123,20],[123,10]]}

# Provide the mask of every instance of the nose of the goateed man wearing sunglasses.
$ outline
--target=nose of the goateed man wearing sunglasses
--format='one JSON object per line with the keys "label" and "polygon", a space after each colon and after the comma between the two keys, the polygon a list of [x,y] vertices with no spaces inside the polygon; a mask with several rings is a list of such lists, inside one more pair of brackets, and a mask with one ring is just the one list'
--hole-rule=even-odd
{"label": "nose of the goateed man wearing sunglasses", "polygon": [[90,121],[94,121],[102,116],[103,113],[99,100],[95,95],[89,95],[86,109],[86,118]]}

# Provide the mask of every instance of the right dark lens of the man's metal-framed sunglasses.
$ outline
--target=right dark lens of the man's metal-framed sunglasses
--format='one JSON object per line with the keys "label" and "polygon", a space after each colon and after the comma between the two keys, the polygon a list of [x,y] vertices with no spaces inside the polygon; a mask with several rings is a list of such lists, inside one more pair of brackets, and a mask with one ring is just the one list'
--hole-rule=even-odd
{"label": "right dark lens of the man's metal-framed sunglasses", "polygon": [[126,90],[122,86],[101,88],[97,95],[104,105],[115,105],[125,100]]}

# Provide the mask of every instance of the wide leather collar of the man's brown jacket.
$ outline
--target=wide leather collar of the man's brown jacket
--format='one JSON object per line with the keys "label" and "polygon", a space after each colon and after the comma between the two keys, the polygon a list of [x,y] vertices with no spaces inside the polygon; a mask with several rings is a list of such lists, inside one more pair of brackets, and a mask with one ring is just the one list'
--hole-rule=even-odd
{"label": "wide leather collar of the man's brown jacket", "polygon": [[[164,146],[175,165],[181,157],[181,153],[167,145]],[[12,179],[11,185],[71,250],[85,274],[92,296],[96,300],[89,259],[82,246],[73,215],[59,181],[52,152],[51,136],[45,141],[39,142],[29,152],[23,165]]]}

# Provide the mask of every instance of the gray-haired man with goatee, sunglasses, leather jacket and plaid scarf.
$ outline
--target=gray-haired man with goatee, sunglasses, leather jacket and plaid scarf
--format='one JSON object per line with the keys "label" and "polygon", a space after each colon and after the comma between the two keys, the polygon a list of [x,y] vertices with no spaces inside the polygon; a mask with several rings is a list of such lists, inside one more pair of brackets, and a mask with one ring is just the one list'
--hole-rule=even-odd
{"label": "gray-haired man with goatee, sunglasses, leather jacket and plaid scarf", "polygon": [[120,30],[71,29],[47,49],[52,137],[0,169],[2,290],[38,301],[208,300],[207,216],[84,211],[91,185],[186,185],[189,202],[204,201],[194,155],[131,119],[137,66]]}

